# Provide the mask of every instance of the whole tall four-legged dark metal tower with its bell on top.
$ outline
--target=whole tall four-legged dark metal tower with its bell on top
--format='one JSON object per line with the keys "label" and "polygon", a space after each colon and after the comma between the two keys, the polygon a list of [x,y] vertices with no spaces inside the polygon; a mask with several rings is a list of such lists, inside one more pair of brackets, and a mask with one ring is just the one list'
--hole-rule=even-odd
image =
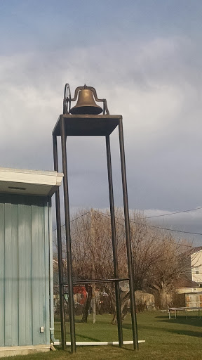
{"label": "whole tall four-legged dark metal tower with its bell on top", "polygon": [[[78,101],[72,108],[72,102]],[[102,108],[96,102],[102,103]],[[102,115],[100,115],[102,113]],[[63,100],[63,114],[60,115],[58,122],[53,129],[53,157],[54,170],[58,172],[58,144],[57,137],[61,136],[62,147],[62,172],[64,174],[63,188],[64,188],[64,205],[65,205],[65,231],[67,244],[67,271],[68,271],[68,288],[69,288],[69,321],[70,321],[70,335],[71,335],[71,349],[76,351],[76,338],[74,326],[74,298],[73,298],[73,281],[72,281],[72,252],[71,252],[71,233],[69,221],[69,193],[68,193],[68,179],[67,179],[67,136],[105,136],[106,152],[107,152],[107,171],[109,184],[109,204],[111,212],[111,227],[112,227],[112,248],[114,258],[114,278],[102,279],[100,282],[112,281],[115,283],[116,293],[116,315],[119,335],[119,347],[123,346],[123,332],[121,321],[121,301],[119,282],[123,279],[119,278],[118,271],[118,257],[116,249],[116,226],[114,213],[114,192],[112,182],[112,160],[110,150],[109,136],[112,131],[119,127],[119,146],[121,158],[121,176],[123,188],[123,207],[125,216],[126,229],[126,248],[128,257],[128,280],[130,285],[130,310],[133,330],[133,347],[138,349],[137,340],[137,321],[135,313],[135,288],[133,275],[133,261],[130,241],[130,222],[128,211],[128,192],[126,182],[126,162],[123,143],[123,124],[121,115],[109,115],[107,108],[107,101],[105,99],[97,98],[95,89],[91,86],[79,86],[76,88],[74,98],[71,98],[69,84],[65,85],[65,94]],[[65,349],[65,305],[64,305],[64,282],[62,273],[62,238],[61,238],[61,220],[60,220],[60,193],[59,189],[55,194],[56,204],[56,220],[57,220],[57,237],[58,237],[58,267],[59,267],[59,283],[60,283],[60,318],[61,318],[61,333],[62,333],[62,349]],[[126,279],[124,279],[126,280]],[[93,283],[95,279],[86,279],[86,282]],[[96,283],[98,280],[96,280]],[[79,282],[81,283],[81,282]]]}

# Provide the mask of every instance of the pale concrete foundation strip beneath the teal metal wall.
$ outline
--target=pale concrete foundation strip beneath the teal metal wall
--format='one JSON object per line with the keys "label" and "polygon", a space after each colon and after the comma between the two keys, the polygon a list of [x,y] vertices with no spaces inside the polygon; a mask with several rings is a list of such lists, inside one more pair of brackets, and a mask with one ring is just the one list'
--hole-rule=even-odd
{"label": "pale concrete foundation strip beneath the teal metal wall", "polygon": [[34,354],[36,352],[49,352],[49,351],[50,351],[50,344],[0,347],[0,357],[28,355],[28,354]]}

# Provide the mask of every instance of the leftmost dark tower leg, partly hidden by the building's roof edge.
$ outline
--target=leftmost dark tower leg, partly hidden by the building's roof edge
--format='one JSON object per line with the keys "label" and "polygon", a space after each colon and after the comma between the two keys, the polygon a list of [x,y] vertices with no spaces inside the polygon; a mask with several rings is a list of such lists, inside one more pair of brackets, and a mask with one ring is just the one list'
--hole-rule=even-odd
{"label": "leftmost dark tower leg, partly hidden by the building's roof edge", "polygon": [[[58,148],[57,137],[53,136],[53,158],[54,170],[58,172]],[[60,219],[60,191],[57,188],[55,192],[55,209],[57,224],[57,241],[58,241],[58,276],[59,276],[59,292],[60,292],[60,323],[61,323],[61,340],[62,350],[66,349],[66,331],[65,331],[65,300],[64,300],[64,281],[62,268],[62,236],[61,236],[61,219]]]}

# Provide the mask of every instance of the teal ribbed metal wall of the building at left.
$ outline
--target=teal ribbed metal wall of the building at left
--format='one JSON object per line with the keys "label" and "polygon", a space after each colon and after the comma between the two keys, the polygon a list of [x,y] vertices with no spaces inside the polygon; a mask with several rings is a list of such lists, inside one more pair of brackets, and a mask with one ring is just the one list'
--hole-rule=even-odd
{"label": "teal ribbed metal wall of the building at left", "polygon": [[49,313],[48,198],[0,194],[0,346],[49,344]]}

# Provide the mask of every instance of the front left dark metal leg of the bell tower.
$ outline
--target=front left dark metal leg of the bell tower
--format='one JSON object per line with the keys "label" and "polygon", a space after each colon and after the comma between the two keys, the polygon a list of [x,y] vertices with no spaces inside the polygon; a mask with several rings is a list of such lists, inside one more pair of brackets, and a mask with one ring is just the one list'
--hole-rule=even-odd
{"label": "front left dark metal leg of the bell tower", "polygon": [[76,352],[76,335],[74,323],[74,296],[73,296],[73,281],[72,281],[72,252],[71,252],[71,236],[70,236],[70,219],[69,219],[69,192],[67,181],[67,148],[66,148],[66,134],[64,118],[61,118],[61,145],[62,145],[62,171],[64,174],[64,203],[65,203],[65,231],[67,244],[67,278],[69,289],[69,321],[70,321],[70,337],[72,353]]}

